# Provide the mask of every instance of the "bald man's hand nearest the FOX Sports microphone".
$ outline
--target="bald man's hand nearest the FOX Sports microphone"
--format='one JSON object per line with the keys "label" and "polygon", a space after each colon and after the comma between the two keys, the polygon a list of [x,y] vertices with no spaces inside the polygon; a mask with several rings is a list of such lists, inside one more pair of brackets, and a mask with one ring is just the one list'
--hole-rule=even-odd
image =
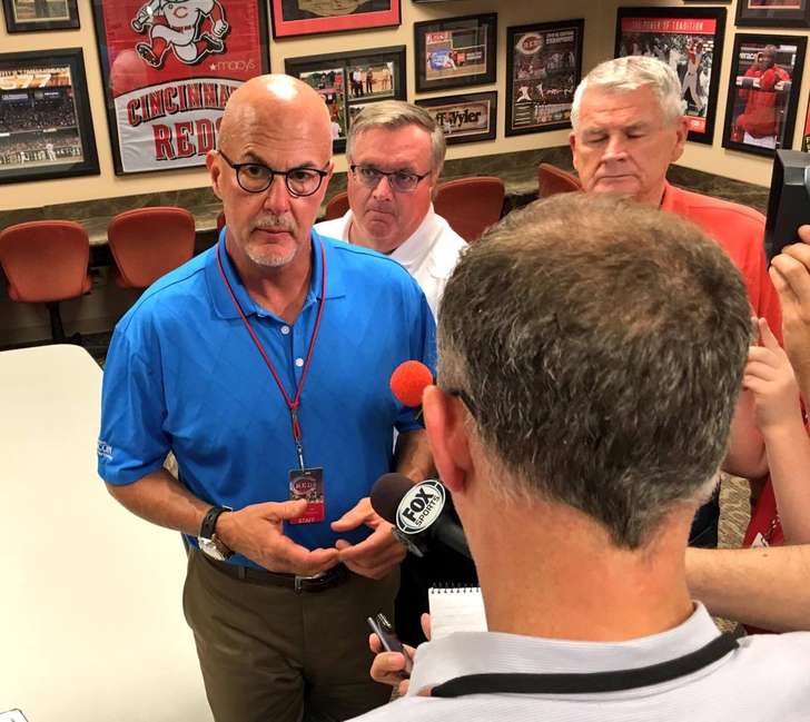
{"label": "bald man's hand nearest the FOX Sports microphone", "polygon": [[333,522],[332,528],[335,532],[349,532],[360,524],[369,526],[374,532],[359,544],[337,540],[335,546],[338,558],[355,574],[381,580],[405,558],[405,547],[392,534],[391,524],[372,508],[372,501],[367,496]]}

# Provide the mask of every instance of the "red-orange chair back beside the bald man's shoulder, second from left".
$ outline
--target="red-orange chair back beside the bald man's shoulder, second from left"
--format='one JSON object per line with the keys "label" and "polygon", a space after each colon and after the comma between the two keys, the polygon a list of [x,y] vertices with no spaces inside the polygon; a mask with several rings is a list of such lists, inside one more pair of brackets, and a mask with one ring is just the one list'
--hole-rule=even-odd
{"label": "red-orange chair back beside the bald man's shoulder, second from left", "polygon": [[121,288],[146,288],[194,256],[194,216],[158,206],[119,214],[107,227]]}

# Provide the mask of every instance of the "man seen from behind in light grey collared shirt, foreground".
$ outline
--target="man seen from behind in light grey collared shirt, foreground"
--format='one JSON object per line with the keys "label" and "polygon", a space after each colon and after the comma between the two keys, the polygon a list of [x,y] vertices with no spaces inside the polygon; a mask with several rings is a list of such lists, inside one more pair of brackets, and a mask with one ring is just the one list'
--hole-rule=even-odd
{"label": "man seen from behind in light grey collared shirt, foreground", "polygon": [[570,194],[485,234],[424,413],[488,632],[422,645],[362,719],[806,719],[810,634],[734,641],[686,586],[750,340],[738,271],[670,214]]}

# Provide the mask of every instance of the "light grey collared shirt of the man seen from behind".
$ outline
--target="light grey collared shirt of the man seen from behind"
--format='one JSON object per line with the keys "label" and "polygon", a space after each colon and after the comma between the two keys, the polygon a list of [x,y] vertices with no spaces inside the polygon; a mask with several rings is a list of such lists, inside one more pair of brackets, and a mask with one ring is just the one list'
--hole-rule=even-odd
{"label": "light grey collared shirt of the man seen from behind", "polygon": [[418,647],[405,698],[364,722],[800,722],[810,719],[810,633],[763,634],[686,676],[589,694],[418,696],[465,674],[582,673],[649,666],[694,652],[719,634],[702,604],[681,625],[626,642],[571,642],[490,632],[455,633]]}

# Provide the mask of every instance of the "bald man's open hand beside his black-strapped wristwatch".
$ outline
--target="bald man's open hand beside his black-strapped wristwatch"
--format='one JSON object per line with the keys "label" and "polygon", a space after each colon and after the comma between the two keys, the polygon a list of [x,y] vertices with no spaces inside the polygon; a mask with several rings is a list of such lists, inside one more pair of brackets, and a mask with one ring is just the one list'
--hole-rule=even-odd
{"label": "bald man's open hand beside his black-strapped wristwatch", "polygon": [[228,548],[266,570],[300,576],[317,574],[337,564],[337,550],[310,552],[284,534],[284,521],[300,516],[306,507],[306,500],[265,502],[221,514],[217,520],[217,536]]}

